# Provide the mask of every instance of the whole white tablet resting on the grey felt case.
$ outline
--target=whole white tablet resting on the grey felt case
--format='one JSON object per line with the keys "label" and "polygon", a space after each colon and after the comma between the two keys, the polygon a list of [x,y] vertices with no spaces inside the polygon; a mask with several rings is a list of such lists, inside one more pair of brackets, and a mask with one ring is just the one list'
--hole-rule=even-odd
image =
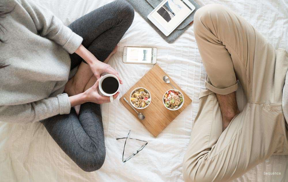
{"label": "whole white tablet resting on the grey felt case", "polygon": [[194,10],[195,6],[188,0],[164,0],[147,18],[169,36]]}

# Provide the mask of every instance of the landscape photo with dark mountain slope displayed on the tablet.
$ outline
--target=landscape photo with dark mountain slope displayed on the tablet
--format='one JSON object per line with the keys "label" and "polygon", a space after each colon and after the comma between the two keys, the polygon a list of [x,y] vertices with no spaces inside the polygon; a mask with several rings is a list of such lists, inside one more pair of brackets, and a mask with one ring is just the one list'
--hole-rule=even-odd
{"label": "landscape photo with dark mountain slope displayed on the tablet", "polygon": [[157,13],[160,14],[169,22],[180,10],[182,7],[177,3],[177,0],[168,0],[158,11]]}

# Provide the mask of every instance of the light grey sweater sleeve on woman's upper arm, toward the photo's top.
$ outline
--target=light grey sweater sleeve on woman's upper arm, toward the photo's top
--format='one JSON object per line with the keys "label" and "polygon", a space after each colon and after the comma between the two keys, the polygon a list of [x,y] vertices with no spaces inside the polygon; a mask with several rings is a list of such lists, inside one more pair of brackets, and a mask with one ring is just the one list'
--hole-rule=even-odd
{"label": "light grey sweater sleeve on woman's upper arm, toward the photo's top", "polygon": [[74,53],[81,45],[83,38],[65,26],[50,10],[41,7],[32,0],[18,1],[31,16],[40,36],[60,44],[70,54]]}

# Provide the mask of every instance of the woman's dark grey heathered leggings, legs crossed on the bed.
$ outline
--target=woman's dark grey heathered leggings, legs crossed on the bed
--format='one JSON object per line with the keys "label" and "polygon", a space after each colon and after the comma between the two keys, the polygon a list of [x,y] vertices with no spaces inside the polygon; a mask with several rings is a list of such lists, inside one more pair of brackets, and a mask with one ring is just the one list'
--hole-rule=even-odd
{"label": "woman's dark grey heathered leggings, legs crossed on the bed", "polygon": [[[98,60],[104,61],[113,51],[134,19],[133,8],[124,0],[106,4],[69,25],[83,37],[82,44]],[[71,56],[71,69],[83,60]],[[101,168],[105,160],[104,131],[100,105],[84,103],[79,117],[75,109],[70,114],[57,115],[41,121],[60,148],[84,171]]]}

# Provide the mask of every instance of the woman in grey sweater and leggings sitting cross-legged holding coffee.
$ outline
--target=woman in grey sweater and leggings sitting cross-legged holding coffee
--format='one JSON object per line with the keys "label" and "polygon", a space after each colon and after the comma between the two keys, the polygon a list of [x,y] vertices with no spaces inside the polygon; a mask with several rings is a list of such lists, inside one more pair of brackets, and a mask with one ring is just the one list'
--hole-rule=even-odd
{"label": "woman in grey sweater and leggings sitting cross-legged holding coffee", "polygon": [[103,62],[130,27],[133,8],[117,0],[68,27],[29,0],[1,1],[0,11],[0,120],[40,121],[80,168],[98,170],[105,160],[99,104],[109,102],[98,94],[98,79],[103,72],[119,78]]}

